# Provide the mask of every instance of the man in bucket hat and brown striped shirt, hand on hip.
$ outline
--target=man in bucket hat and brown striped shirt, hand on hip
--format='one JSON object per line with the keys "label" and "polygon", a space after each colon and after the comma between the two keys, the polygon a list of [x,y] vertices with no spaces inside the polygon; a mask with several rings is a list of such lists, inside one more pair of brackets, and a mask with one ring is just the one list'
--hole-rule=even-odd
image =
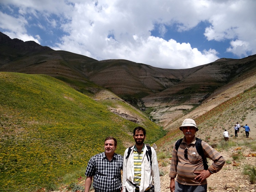
{"label": "man in bucket hat and brown striped shirt, hand on hip", "polygon": [[[206,178],[218,172],[225,159],[208,143],[195,137],[198,128],[193,119],[185,119],[179,129],[184,137],[177,140],[172,149],[170,191],[206,192]],[[208,166],[206,158],[212,159],[213,164]]]}

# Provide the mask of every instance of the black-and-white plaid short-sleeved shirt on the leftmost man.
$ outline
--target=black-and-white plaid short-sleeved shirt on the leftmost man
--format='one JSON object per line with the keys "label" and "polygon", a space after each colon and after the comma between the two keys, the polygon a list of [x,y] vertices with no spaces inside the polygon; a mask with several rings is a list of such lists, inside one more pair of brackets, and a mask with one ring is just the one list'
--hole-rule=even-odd
{"label": "black-and-white plaid short-sleeved shirt on the leftmost man", "polygon": [[122,187],[121,169],[123,170],[123,156],[115,153],[109,162],[103,152],[91,157],[85,175],[94,176],[95,192],[115,192]]}

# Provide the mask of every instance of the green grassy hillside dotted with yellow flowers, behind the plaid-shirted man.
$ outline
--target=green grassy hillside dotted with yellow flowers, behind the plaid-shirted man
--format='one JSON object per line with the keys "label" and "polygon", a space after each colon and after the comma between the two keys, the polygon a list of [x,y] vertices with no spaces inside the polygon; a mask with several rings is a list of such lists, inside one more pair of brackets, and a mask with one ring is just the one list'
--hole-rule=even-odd
{"label": "green grassy hillside dotted with yellow flowers, behind the plaid-shirted man", "polygon": [[[83,177],[107,136],[117,138],[116,152],[123,154],[123,141],[132,142],[138,126],[107,110],[114,103],[97,102],[46,75],[1,72],[0,93],[0,191],[49,189]],[[141,118],[148,141],[163,136]]]}

